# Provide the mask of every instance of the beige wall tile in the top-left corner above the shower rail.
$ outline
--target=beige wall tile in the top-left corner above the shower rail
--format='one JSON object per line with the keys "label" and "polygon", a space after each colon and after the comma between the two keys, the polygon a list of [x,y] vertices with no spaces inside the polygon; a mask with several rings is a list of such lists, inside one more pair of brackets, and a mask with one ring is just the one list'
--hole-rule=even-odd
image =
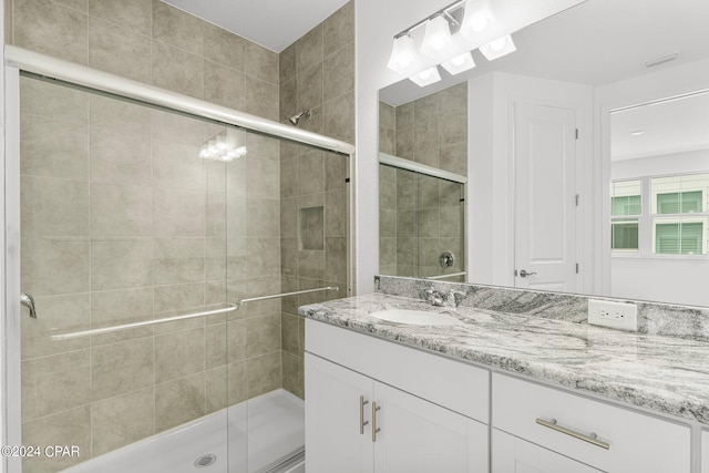
{"label": "beige wall tile in the top-left corner above the shower rail", "polygon": [[21,48],[86,64],[86,24],[85,12],[52,0],[14,2],[14,44]]}

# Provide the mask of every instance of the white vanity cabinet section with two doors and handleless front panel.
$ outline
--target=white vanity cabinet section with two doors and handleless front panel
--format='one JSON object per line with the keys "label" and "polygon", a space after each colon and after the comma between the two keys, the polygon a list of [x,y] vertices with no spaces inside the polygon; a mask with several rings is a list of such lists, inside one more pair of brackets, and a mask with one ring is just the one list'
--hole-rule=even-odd
{"label": "white vanity cabinet section with two doors and handleless front panel", "polygon": [[309,473],[489,471],[487,371],[306,323]]}

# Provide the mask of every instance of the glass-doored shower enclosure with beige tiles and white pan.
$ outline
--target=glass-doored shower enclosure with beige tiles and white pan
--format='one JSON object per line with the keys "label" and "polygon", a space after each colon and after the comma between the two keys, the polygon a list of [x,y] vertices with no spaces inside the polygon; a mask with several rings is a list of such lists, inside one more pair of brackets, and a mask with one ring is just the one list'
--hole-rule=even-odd
{"label": "glass-doored shower enclosure with beige tiles and white pan", "polygon": [[299,471],[297,308],[351,291],[351,146],[33,56],[4,360],[8,443],[39,450],[9,471]]}

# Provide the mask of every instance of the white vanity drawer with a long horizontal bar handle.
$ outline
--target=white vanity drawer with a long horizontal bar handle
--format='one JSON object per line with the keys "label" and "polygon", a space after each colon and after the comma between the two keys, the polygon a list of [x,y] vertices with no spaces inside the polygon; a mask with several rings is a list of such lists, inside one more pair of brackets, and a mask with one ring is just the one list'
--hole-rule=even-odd
{"label": "white vanity drawer with a long horizontal bar handle", "polygon": [[492,393],[494,428],[594,467],[690,471],[688,425],[497,373]]}

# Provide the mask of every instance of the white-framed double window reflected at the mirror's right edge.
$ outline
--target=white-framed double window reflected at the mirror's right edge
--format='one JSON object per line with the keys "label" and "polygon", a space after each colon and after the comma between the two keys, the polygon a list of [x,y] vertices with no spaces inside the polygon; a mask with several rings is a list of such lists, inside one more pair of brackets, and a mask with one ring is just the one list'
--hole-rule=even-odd
{"label": "white-framed double window reflected at the mirror's right edge", "polygon": [[707,255],[709,173],[613,182],[610,220],[616,254]]}

